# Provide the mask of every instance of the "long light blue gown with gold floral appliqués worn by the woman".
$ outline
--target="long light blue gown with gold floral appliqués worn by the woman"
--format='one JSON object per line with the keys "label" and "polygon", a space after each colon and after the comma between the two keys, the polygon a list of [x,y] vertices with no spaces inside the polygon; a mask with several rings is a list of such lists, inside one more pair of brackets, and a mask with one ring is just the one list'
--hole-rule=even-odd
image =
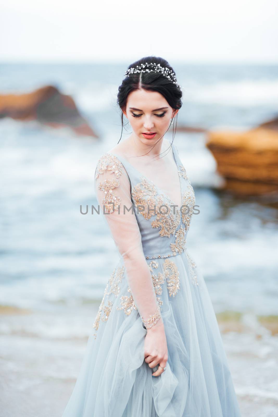
{"label": "long light blue gown with gold floral appliqu\u00e9s worn by the woman", "polygon": [[157,219],[156,214],[147,218],[136,211],[138,203],[144,203],[144,196],[151,193],[154,198],[161,196],[165,204],[169,198],[153,183],[154,188],[146,191],[144,180],[148,178],[122,156],[102,155],[95,172],[96,178],[110,170],[115,181],[120,166],[128,174],[144,257],[164,322],[166,369],[153,377],[158,366],[151,369],[144,361],[147,330],[132,305],[120,257],[92,323],[77,382],[62,417],[241,416],[213,305],[203,275],[186,248],[195,196],[178,149],[174,144],[172,149],[183,204],[190,207],[174,218]]}

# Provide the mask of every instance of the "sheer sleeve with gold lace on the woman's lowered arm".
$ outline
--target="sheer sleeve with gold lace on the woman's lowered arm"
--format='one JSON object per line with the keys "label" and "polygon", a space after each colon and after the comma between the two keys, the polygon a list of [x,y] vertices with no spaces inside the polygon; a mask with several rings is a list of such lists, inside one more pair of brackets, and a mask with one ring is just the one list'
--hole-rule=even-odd
{"label": "sheer sleeve with gold lace on the woman's lowered arm", "polygon": [[133,211],[131,184],[121,161],[109,153],[99,158],[94,174],[99,213],[107,222],[124,261],[128,286],[146,329],[162,321],[139,226]]}

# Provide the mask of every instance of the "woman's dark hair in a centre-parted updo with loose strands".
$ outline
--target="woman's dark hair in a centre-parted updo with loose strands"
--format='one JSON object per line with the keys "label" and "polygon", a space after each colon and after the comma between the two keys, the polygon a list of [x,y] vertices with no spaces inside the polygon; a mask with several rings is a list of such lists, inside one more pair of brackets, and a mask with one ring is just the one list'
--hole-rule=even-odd
{"label": "woman's dark hair in a centre-parted updo with loose strands", "polygon": [[[145,63],[155,63],[156,65],[160,64],[162,68],[169,68],[169,70],[173,70],[171,65],[166,61],[166,59],[156,56],[146,56],[144,58],[139,59],[138,61],[129,65],[129,68],[137,68],[141,66],[141,64]],[[175,74],[176,75],[176,74]],[[134,90],[144,89],[147,91],[157,91],[167,100],[169,106],[171,108],[178,110],[182,106],[182,91],[176,84],[173,83],[173,80],[169,80],[166,76],[164,76],[161,71],[157,72],[140,72],[140,73],[131,73],[128,77],[125,77],[122,81],[122,84],[119,86],[119,92],[117,94],[117,104],[122,110],[121,120],[122,120],[122,133],[124,127],[124,113],[123,109],[125,110],[127,105],[127,97],[129,93]],[[172,118],[173,120],[173,118]],[[171,120],[171,122],[172,122]],[[177,121],[177,118],[176,118]],[[176,123],[175,123],[176,124]],[[168,130],[168,129],[167,129]],[[176,129],[175,129],[176,133]],[[119,141],[122,138],[119,139]],[[174,124],[173,124],[173,140],[174,140]],[[118,142],[119,143],[119,142]]]}

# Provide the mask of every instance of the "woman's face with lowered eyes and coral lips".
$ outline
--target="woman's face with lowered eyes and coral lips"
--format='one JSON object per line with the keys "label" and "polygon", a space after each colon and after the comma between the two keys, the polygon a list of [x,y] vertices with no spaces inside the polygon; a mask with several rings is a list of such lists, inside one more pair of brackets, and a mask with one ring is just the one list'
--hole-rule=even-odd
{"label": "woman's face with lowered eyes and coral lips", "polygon": [[[144,144],[156,143],[169,128],[171,118],[179,110],[171,108],[167,100],[156,91],[135,90],[128,95],[123,111],[132,126],[133,134]],[[144,135],[144,133],[155,133]]]}

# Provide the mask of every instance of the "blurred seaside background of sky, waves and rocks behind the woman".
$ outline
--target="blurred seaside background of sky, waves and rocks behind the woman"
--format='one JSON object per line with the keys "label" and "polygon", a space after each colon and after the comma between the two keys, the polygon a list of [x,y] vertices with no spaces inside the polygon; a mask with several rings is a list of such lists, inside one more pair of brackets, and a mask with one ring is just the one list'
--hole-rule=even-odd
{"label": "blurred seaside background of sky, waves and rocks behind the woman", "polygon": [[[278,50],[274,0],[0,8],[0,416],[60,416],[117,251],[94,170],[117,89],[147,55],[183,87],[174,143],[200,214],[187,246],[242,416],[278,416]],[[122,140],[131,131],[123,131]],[[171,141],[171,129],[165,135]]]}

